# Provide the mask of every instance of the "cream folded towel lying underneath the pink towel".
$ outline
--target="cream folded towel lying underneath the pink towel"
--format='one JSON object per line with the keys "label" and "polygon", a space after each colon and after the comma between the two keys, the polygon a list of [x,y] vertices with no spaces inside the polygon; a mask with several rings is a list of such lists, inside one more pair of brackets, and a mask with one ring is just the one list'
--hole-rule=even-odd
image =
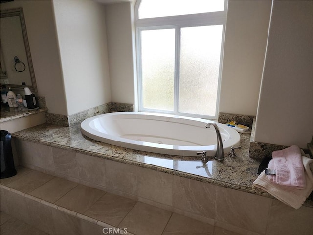
{"label": "cream folded towel lying underneath the pink towel", "polygon": [[302,156],[302,164],[306,178],[304,189],[275,184],[268,179],[268,175],[265,174],[265,171],[253,182],[253,186],[261,188],[283,203],[298,209],[313,190],[313,159]]}

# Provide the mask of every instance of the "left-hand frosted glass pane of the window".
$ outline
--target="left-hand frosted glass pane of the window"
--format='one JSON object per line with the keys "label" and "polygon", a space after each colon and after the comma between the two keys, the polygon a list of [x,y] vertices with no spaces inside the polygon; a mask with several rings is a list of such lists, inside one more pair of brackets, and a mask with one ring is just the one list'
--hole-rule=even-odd
{"label": "left-hand frosted glass pane of the window", "polygon": [[175,29],[141,31],[142,105],[174,110]]}

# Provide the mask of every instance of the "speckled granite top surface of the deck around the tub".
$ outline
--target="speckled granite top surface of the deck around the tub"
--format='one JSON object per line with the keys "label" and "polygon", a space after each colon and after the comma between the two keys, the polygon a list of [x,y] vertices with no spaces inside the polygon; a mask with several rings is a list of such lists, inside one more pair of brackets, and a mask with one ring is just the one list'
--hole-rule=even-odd
{"label": "speckled granite top surface of the deck around the tub", "polygon": [[[80,124],[64,127],[45,123],[13,133],[12,136],[273,198],[267,192],[252,187],[258,177],[260,162],[248,157],[251,134],[240,133],[242,148],[236,149],[237,157],[225,156],[224,161],[209,158],[207,164],[203,164],[200,157],[143,152],[95,141],[81,133]],[[313,207],[313,201],[306,200],[304,205]]]}

